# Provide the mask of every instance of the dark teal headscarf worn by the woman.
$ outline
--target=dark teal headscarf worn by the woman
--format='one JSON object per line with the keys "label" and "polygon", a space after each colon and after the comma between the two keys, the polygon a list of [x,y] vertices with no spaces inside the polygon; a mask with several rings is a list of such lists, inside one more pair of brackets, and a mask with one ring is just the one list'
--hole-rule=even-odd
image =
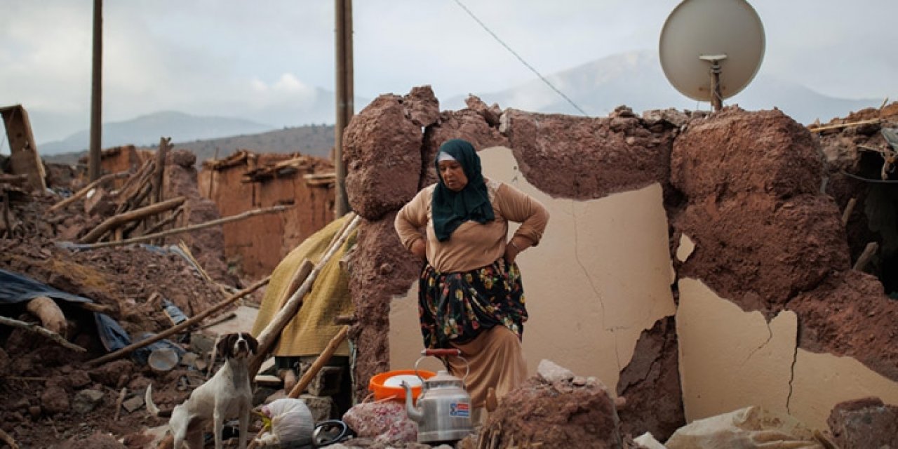
{"label": "dark teal headscarf worn by the woman", "polygon": [[[443,177],[440,176],[440,153],[451,155],[458,163],[462,164],[464,175],[468,178],[468,184],[461,191],[453,191],[446,187]],[[436,175],[439,182],[434,189],[431,214],[434,220],[436,240],[445,242],[449,236],[466,221],[475,221],[483,224],[493,221],[493,206],[489,204],[487,184],[480,172],[480,156],[474,150],[474,145],[462,139],[447,140],[440,145],[434,158]]]}

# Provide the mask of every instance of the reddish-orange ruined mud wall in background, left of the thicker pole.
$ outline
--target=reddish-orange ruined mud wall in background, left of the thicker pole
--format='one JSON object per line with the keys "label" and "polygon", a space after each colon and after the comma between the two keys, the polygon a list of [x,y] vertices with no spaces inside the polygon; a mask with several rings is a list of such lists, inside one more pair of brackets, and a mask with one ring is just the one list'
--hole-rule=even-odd
{"label": "reddish-orange ruined mud wall in background, left of the thicker pole", "polygon": [[293,206],[277,218],[252,216],[222,225],[229,269],[247,277],[269,275],[289,251],[333,220],[333,164],[319,157],[241,150],[204,162],[199,192],[221,216]]}

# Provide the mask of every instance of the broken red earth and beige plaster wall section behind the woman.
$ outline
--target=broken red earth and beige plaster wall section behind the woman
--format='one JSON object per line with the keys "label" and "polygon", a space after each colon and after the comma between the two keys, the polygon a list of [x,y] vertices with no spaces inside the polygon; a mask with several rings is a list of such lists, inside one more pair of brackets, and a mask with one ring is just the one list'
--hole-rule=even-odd
{"label": "broken red earth and beige plaster wall section behind the woman", "polygon": [[[648,335],[647,330],[654,329],[660,322],[658,320],[673,314],[673,300],[668,287],[672,273],[663,197],[668,189],[666,161],[669,160],[677,128],[668,119],[676,115],[685,119],[685,116],[682,113],[669,114],[665,116],[668,119],[662,119],[664,114],[659,112],[657,117],[640,119],[626,108],[621,108],[612,117],[598,119],[530,114],[516,110],[506,110],[502,114],[496,105],[488,107],[476,98],[469,99],[468,106],[464,110],[436,113],[438,103],[430,89],[416,88],[406,96],[378,97],[357,114],[347,128],[344,155],[348,166],[348,198],[354,210],[365,218],[359,230],[359,251],[352,260],[350,281],[358,320],[350,333],[358,350],[355,373],[357,398],[365,397],[368,379],[372,375],[390,369],[391,365],[392,368],[407,367],[400,366],[403,360],[412,357],[410,360],[413,362],[414,355],[420,349],[414,283],[421,263],[401,246],[392,221],[395,212],[413,198],[418,189],[436,180],[432,161],[438,145],[446,139],[459,137],[481,149],[505,147],[481,154],[485,174],[513,183],[550,206],[558,204],[552,212],[550,229],[546,233],[548,240],[558,242],[544,242],[533,251],[522,254],[524,283],[531,298],[528,304],[533,308],[533,320],[528,323],[526,331],[530,337],[524,338],[525,351],[539,348],[539,354],[552,357],[562,365],[585,364],[585,374],[601,372],[603,381],[609,383],[617,382],[618,374],[629,364],[631,355],[634,360],[638,358],[638,366],[628,371],[628,391],[647,397],[634,401],[642,405],[630,410],[629,422],[633,428],[649,427],[656,435],[672,432],[682,425],[679,383],[659,380],[657,371],[677,372],[675,338],[670,339],[670,327],[664,328],[660,335]],[[570,135],[580,138],[568,140],[566,136]],[[608,141],[591,137],[596,135],[607,136]],[[561,162],[557,161],[559,158]],[[526,165],[524,160],[528,162]],[[637,167],[630,163],[634,160],[639,161]],[[641,168],[651,161],[662,161],[660,168]],[[594,169],[595,166],[601,166],[603,170]],[[571,177],[575,181],[570,182],[568,177],[559,178],[556,175],[559,170],[577,173],[577,176]],[[621,193],[639,189],[644,191]],[[604,198],[613,193],[621,193],[622,196],[613,200]],[[640,199],[633,199],[636,197]],[[603,213],[602,207],[572,198],[603,198],[594,202],[613,204],[613,210],[629,208],[633,213],[627,215],[631,216],[629,219],[615,224],[612,223],[615,214],[609,214],[607,210]],[[652,212],[645,215],[642,207],[634,209],[631,207],[634,200],[639,204],[647,201],[646,210]],[[648,205],[654,205],[654,208]],[[603,223],[607,222],[607,229],[595,225],[597,217]],[[638,294],[627,293],[627,288],[606,282],[617,272],[608,270],[608,264],[613,264],[616,259],[601,251],[601,242],[607,243],[608,239],[621,236],[609,234],[604,241],[596,241],[594,237],[634,222],[639,223],[634,229],[644,229],[643,226],[651,228],[651,238],[631,235],[634,239],[622,239],[642,242],[638,244],[640,251],[630,251],[633,248],[624,243],[620,246],[627,247],[625,251],[637,256],[630,260],[634,262],[632,267],[637,273],[644,273],[653,281],[642,282],[641,286],[645,288],[628,285],[634,287],[634,291],[643,293],[647,293],[645,289],[655,291],[659,287],[661,293],[650,293],[636,301],[629,301]],[[581,244],[595,245],[595,248],[591,246],[588,250],[578,251],[577,239],[581,239]],[[639,257],[649,258],[653,254],[657,256],[655,259],[641,260],[646,263],[638,260]],[[578,261],[585,266],[577,265]],[[528,263],[531,264],[530,268],[527,268]],[[558,270],[547,267],[565,267],[568,271],[558,276]],[[621,263],[620,267],[631,265]],[[638,271],[638,267],[645,268],[651,274]],[[569,295],[559,294],[558,283],[570,281],[571,277],[580,280],[568,282],[568,286],[563,288],[565,292],[577,288],[585,290],[571,291]],[[632,277],[633,273],[630,273],[629,278]],[[401,299],[394,299],[394,296]],[[603,298],[609,306],[607,311],[603,311]],[[668,304],[666,308],[656,307],[665,301]],[[565,306],[568,304],[566,302],[571,305]],[[387,313],[393,316],[388,317]],[[559,327],[556,322],[560,320],[559,313],[564,316],[568,316],[565,313],[573,313],[575,321],[577,314],[581,319],[585,316],[597,317],[597,321],[603,322],[601,326],[596,326],[596,322],[592,321],[581,322],[579,329],[597,328],[595,331],[599,335],[579,339],[572,348],[562,348],[564,345],[555,339],[559,329],[576,332],[577,327]],[[619,329],[614,323],[621,320],[627,324]],[[386,329],[390,329],[389,341],[383,338]],[[642,339],[654,341],[658,337],[668,342],[660,347],[638,345]],[[634,354],[634,348],[646,348],[646,354]],[[534,365],[539,361],[536,355],[528,358]],[[671,363],[674,365],[667,365]],[[663,365],[659,368],[660,364]],[[647,379],[651,387],[640,390],[643,379]],[[670,380],[677,379],[674,376]],[[658,385],[672,386],[673,390],[659,391],[654,388]],[[670,402],[670,407],[666,406],[667,402]],[[668,417],[652,418],[661,403],[665,403],[663,409],[674,411]]]}

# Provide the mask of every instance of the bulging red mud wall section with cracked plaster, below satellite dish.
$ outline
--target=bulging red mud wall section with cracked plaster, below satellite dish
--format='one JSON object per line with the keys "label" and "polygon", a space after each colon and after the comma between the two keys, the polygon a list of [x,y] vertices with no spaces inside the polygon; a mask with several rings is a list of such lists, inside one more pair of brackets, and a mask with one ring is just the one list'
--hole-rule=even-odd
{"label": "bulging red mud wall section with cracked plaster, below satellite dish", "polygon": [[898,302],[850,269],[810,132],[727,108],[688,125],[671,167],[674,238],[694,242],[676,263],[687,418],[762,405],[823,429],[841,401],[898,401]]}

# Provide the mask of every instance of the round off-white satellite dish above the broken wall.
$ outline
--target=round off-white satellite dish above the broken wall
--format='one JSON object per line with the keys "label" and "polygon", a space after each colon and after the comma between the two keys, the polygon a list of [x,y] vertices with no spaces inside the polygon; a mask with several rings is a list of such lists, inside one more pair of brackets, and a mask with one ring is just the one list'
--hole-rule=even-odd
{"label": "round off-white satellite dish above the broken wall", "polygon": [[745,0],[683,0],[667,17],[658,51],[677,91],[720,110],[758,73],[764,27]]}

